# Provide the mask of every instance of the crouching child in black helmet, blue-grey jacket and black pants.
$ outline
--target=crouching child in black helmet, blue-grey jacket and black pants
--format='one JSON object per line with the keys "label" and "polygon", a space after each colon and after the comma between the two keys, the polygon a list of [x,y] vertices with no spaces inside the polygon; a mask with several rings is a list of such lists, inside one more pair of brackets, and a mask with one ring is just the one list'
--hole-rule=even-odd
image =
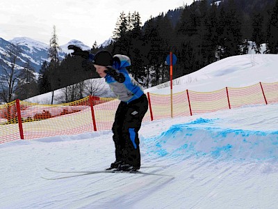
{"label": "crouching child in black helmet, blue-grey jacket and black pants", "polygon": [[106,79],[106,83],[121,101],[112,127],[115,162],[108,169],[137,171],[141,165],[138,131],[147,112],[148,101],[142,86],[126,70],[131,65],[129,57],[121,54],[112,56],[106,50],[94,56],[74,45],[68,49],[74,50],[73,55],[92,59],[99,76]]}

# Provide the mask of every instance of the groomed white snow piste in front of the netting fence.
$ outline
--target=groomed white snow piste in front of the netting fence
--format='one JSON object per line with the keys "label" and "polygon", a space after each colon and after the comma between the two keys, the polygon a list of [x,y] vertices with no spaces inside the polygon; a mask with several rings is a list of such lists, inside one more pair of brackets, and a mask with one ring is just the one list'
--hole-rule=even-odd
{"label": "groomed white snow piste in front of the netting fence", "polygon": [[[278,104],[272,104],[270,109],[277,107]],[[246,107],[245,112],[254,108],[260,109],[261,114],[269,110],[265,106]],[[233,120],[237,112],[242,113],[234,110]],[[263,158],[254,153],[243,159],[244,149],[240,149],[246,144],[246,136],[251,141],[258,132],[259,138],[254,144],[262,147],[261,138],[268,140],[268,135],[272,134],[277,146],[278,134],[274,127],[272,130],[275,124],[269,124],[262,131],[240,130],[235,139],[235,131],[227,133],[218,123],[231,119],[229,111],[221,113],[221,116],[211,113],[202,117],[169,118],[142,126],[142,164],[167,165],[142,171],[167,173],[173,175],[172,178],[127,173],[99,173],[63,180],[40,178],[65,176],[65,173],[49,172],[44,167],[70,171],[104,169],[114,155],[112,134],[108,131],[83,134],[83,138],[76,139],[64,136],[55,140],[52,137],[10,142],[0,153],[1,159],[8,156],[1,167],[7,174],[1,178],[2,189],[8,192],[1,192],[0,208],[276,208],[273,200],[278,198],[277,153],[269,146],[260,149]],[[277,120],[278,116],[272,112],[272,118]],[[258,122],[261,121],[264,120]],[[256,123],[250,121],[249,127]],[[147,130],[152,130],[152,134]],[[196,135],[204,137],[197,144]],[[220,140],[224,138],[225,142]],[[234,146],[223,148],[234,141],[238,141],[236,152],[231,152]],[[161,151],[163,148],[165,151]],[[268,148],[272,155],[268,155]],[[218,150],[218,155],[213,151],[204,155],[210,149]],[[253,149],[254,146],[250,146],[250,150]]]}

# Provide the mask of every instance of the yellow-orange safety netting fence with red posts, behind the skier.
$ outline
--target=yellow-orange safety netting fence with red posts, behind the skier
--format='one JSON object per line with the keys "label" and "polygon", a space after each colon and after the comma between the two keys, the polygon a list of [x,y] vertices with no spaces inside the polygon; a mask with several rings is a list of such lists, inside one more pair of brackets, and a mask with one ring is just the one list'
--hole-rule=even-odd
{"label": "yellow-orange safety netting fence with red posts, behind the skier", "polygon": [[[213,92],[183,91],[170,95],[148,93],[149,110],[143,121],[190,116],[250,104],[278,102],[278,82]],[[56,135],[111,130],[119,100],[88,96],[65,104],[13,101],[0,105],[0,143]]]}

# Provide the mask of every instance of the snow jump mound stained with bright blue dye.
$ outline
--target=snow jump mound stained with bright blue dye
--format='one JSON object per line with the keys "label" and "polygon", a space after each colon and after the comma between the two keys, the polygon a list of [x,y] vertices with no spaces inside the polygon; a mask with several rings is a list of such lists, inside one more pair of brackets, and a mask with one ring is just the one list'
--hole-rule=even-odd
{"label": "snow jump mound stained with bright blue dye", "polygon": [[198,118],[172,125],[157,137],[144,139],[149,155],[161,157],[210,156],[219,160],[278,161],[278,132],[213,127],[216,119]]}

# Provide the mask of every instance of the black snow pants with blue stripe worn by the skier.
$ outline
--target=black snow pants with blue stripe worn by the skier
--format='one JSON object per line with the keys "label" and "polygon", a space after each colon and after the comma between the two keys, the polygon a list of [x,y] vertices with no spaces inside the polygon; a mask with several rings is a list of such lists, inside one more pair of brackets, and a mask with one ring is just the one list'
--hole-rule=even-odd
{"label": "black snow pants with blue stripe worn by the skier", "polygon": [[140,168],[138,131],[147,109],[148,100],[145,94],[128,104],[120,102],[112,127],[116,160]]}

